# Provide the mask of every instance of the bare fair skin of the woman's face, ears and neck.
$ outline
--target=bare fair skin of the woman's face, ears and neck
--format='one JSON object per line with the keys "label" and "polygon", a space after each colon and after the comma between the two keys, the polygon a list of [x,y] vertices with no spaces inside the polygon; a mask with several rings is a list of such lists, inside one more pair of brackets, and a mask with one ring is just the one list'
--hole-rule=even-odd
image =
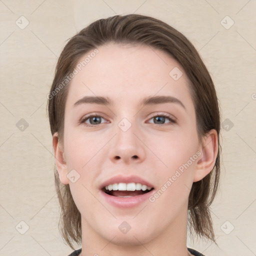
{"label": "bare fair skin of the woman's face, ears and neck", "polygon": [[[145,45],[113,43],[98,50],[71,80],[63,143],[57,133],[53,135],[59,178],[69,184],[81,213],[82,255],[187,256],[188,195],[192,183],[214,166],[216,131],[211,130],[199,142],[188,78],[165,52]],[[174,67],[183,72],[176,81],[169,75]],[[73,106],[85,95],[107,96],[113,104]],[[154,95],[176,97],[185,108],[173,102],[141,108],[140,100]],[[93,127],[79,123],[89,113],[102,116],[101,123],[89,119],[86,123]],[[163,118],[160,125],[153,116],[162,113],[169,114],[175,123]],[[125,132],[118,126],[122,118],[131,124]],[[120,209],[100,195],[100,184],[117,174],[138,175],[158,190],[197,151],[201,155],[154,202],[146,200]],[[74,183],[66,176],[72,169],[80,175]],[[123,221],[131,226],[126,234],[118,229]]]}

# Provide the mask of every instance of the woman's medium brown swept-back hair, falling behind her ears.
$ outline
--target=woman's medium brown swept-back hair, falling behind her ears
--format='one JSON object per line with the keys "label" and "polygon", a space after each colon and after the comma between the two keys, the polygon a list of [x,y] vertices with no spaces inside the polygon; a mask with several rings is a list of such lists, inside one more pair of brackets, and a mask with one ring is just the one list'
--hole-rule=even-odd
{"label": "woman's medium brown swept-back hair, falling behind her ears", "polygon": [[[188,227],[190,233],[194,231],[199,237],[215,241],[209,205],[216,194],[220,172],[220,114],[216,91],[210,74],[194,46],[170,25],[145,15],[115,15],[98,19],[74,35],[59,56],[48,94],[51,134],[57,132],[59,140],[62,140],[64,107],[68,92],[68,82],[63,85],[63,80],[85,53],[109,42],[144,44],[160,49],[183,67],[190,83],[198,137],[201,141],[208,131],[215,129],[218,139],[218,153],[213,169],[204,178],[192,184],[188,198]],[[73,201],[69,185],[60,182],[56,168],[54,174],[61,208],[59,230],[68,245],[74,249],[72,243],[81,242],[81,215]]]}

